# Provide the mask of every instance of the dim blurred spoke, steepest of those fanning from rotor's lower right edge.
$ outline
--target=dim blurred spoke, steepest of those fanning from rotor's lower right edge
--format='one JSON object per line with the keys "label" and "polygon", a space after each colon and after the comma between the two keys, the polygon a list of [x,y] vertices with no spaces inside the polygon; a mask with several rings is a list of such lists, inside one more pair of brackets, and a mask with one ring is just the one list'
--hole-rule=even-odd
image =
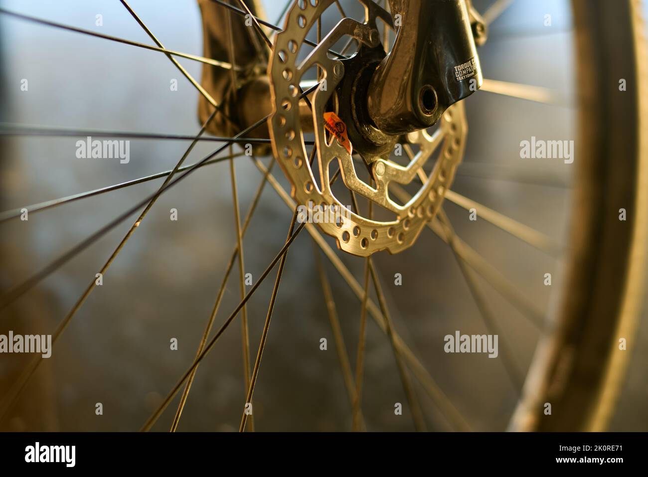
{"label": "dim blurred spoke, steepest of those fanning from rotor's lower right edge", "polygon": [[452,224],[450,224],[448,216],[446,216],[446,213],[443,210],[443,207],[439,210],[439,220],[441,222],[441,225],[445,229],[446,239],[448,244],[450,245],[450,249],[452,250],[452,255],[454,255],[457,264],[459,264],[461,274],[463,275],[470,290],[470,294],[475,301],[475,305],[477,305],[477,308],[480,312],[481,320],[486,326],[486,329],[491,334],[496,334],[500,337],[500,355],[502,355],[502,365],[507,377],[509,377],[509,380],[511,380],[511,384],[513,384],[513,388],[515,389],[515,392],[519,397],[520,393],[522,392],[523,378],[522,373],[520,373],[520,370],[515,364],[515,356],[513,355],[511,346],[502,334],[500,327],[497,325],[497,321],[494,319],[492,312],[487,305],[486,299],[480,291],[477,281],[474,279],[474,276],[468,269],[465,262],[461,259],[461,257],[459,257],[459,253],[457,253],[455,246],[456,234],[454,232]]}

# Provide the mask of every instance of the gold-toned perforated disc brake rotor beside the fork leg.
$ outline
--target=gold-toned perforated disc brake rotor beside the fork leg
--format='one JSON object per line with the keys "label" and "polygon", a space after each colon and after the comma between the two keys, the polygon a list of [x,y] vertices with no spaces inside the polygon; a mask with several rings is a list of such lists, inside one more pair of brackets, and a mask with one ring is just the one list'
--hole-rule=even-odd
{"label": "gold-toned perforated disc brake rotor beside the fork leg", "polygon": [[[446,189],[452,184],[456,167],[463,158],[467,124],[463,103],[458,102],[445,111],[434,133],[419,130],[408,134],[408,142],[418,145],[420,150],[407,165],[392,161],[389,153],[369,158],[363,156],[373,180],[367,183],[358,177],[352,154],[335,135],[329,137],[327,134],[325,113],[332,111],[332,95],[345,75],[343,62],[329,50],[344,37],[355,38],[360,48],[378,47],[380,35],[376,18],[392,24],[388,12],[376,3],[371,0],[358,1],[365,7],[364,23],[348,17],[342,19],[301,61],[298,60],[299,51],[309,30],[334,0],[300,0],[292,6],[286,16],[283,32],[275,37],[268,65],[273,105],[268,129],[273,152],[292,184],[292,196],[297,203],[315,204],[321,207],[324,215],[327,211],[341,211],[340,220],[321,221],[318,226],[323,233],[336,238],[341,250],[365,257],[380,250],[390,253],[405,250],[415,242],[426,222],[435,217]],[[304,134],[310,128],[303,128],[299,115],[299,85],[305,73],[316,66],[319,66],[321,78],[326,80],[327,87],[316,89],[310,96],[317,150],[316,161],[310,165],[304,142]],[[397,94],[397,91],[393,93]],[[343,102],[349,99],[337,100]],[[374,126],[367,124],[365,127]],[[396,140],[395,137],[393,142]],[[434,161],[432,156],[436,158],[432,172],[422,172],[424,166]],[[383,222],[349,210],[333,194],[329,185],[331,164],[335,160],[338,161],[347,189],[387,209],[395,215],[395,219]],[[360,165],[364,167],[362,163]],[[313,173],[315,167],[319,169],[319,180]],[[389,183],[408,185],[412,181],[416,181],[418,191],[406,204],[394,202],[389,194]]]}

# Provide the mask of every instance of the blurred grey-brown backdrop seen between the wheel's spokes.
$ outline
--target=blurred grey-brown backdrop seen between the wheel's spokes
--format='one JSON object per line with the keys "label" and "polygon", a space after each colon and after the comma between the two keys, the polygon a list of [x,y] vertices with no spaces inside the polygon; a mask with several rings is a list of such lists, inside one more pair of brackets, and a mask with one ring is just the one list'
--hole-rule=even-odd
{"label": "blurred grey-brown backdrop seen between the wheel's spokes", "polygon": [[[343,2],[344,5],[350,2]],[[483,12],[491,0],[474,1]],[[195,0],[131,0],[168,48],[202,55],[202,23]],[[150,38],[117,0],[0,0],[2,8],[65,25],[150,44]],[[283,2],[264,1],[275,24]],[[102,25],[96,25],[97,15]],[[551,26],[544,25],[551,15]],[[520,141],[531,136],[575,139],[572,17],[568,1],[516,1],[492,25],[480,50],[485,78],[547,87],[559,92],[550,106],[480,91],[466,101],[468,147],[453,190],[566,243],[570,227],[572,165],[524,162]],[[196,135],[198,93],[164,54],[28,23],[0,14],[2,121],[30,126]],[[201,65],[179,58],[195,78]],[[28,91],[21,91],[27,79]],[[178,80],[178,90],[170,82]],[[5,137],[0,161],[5,211],[172,169],[189,145],[183,141],[132,140],[130,162],[77,159],[78,137]],[[82,138],[81,138],[82,139]],[[187,163],[212,152],[199,143]],[[262,159],[268,164],[269,159]],[[260,181],[245,157],[236,159],[242,215]],[[279,168],[275,176],[288,183]],[[156,191],[161,179],[86,198],[0,224],[0,288],[21,283],[133,204]],[[538,308],[548,310],[561,289],[563,262],[527,246],[449,202],[457,235],[502,271]],[[178,220],[169,220],[170,209]],[[283,245],[290,211],[266,186],[244,240],[246,272],[256,281]],[[0,333],[49,334],[69,312],[135,216],[52,273],[3,311]],[[117,260],[78,311],[43,363],[2,430],[137,430],[191,364],[235,245],[227,163],[197,170],[165,192]],[[327,238],[328,240],[328,238]],[[329,243],[334,246],[332,240]],[[358,281],[364,261],[339,253]],[[475,430],[504,430],[518,394],[500,359],[446,355],[443,336],[456,330],[486,333],[478,308],[445,243],[424,230],[409,250],[379,253],[395,327],[459,412]],[[326,264],[354,367],[360,303]],[[402,286],[394,284],[402,274]],[[553,275],[544,286],[544,273]],[[273,277],[248,305],[251,354],[266,318]],[[216,316],[218,327],[239,301],[232,273]],[[515,362],[526,373],[537,329],[480,279]],[[555,296],[554,294],[557,294]],[[375,296],[374,296],[375,298]],[[178,350],[169,347],[178,339]],[[329,349],[319,349],[327,338]],[[610,430],[648,430],[648,326],[643,319],[631,347],[629,373]],[[501,346],[501,344],[500,344]],[[3,355],[4,394],[30,356]],[[238,430],[245,402],[238,319],[205,358],[178,430]],[[412,430],[388,338],[369,319],[363,412],[368,430]],[[428,426],[450,427],[417,385]],[[103,415],[95,415],[95,404]],[[257,430],[349,430],[345,391],[312,240],[301,234],[290,248],[254,395]],[[178,399],[155,430],[168,430]]]}

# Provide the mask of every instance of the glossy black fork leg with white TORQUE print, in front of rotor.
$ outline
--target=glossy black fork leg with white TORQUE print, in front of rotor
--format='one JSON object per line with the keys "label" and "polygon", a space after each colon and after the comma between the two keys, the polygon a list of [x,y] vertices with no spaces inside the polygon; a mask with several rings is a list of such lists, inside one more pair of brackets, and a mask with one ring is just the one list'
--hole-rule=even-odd
{"label": "glossy black fork leg with white TORQUE print, in front of rotor", "polygon": [[396,41],[376,69],[367,107],[386,134],[435,124],[452,104],[481,87],[476,45],[486,25],[470,0],[389,0]]}

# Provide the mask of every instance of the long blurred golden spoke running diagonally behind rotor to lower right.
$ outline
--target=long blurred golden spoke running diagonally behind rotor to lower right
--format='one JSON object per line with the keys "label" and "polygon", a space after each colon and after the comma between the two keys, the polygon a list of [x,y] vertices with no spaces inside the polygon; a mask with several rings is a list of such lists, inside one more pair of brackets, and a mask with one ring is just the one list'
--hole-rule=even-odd
{"label": "long blurred golden spoke running diagonally behind rotor to lower right", "polygon": [[[254,163],[262,174],[266,174],[266,167],[264,167],[264,165],[262,165],[262,163],[258,159],[255,159]],[[339,174],[339,172],[340,170],[338,170],[336,174]],[[281,197],[281,199],[284,201],[286,207],[288,207],[290,210],[294,210],[294,208],[296,207],[295,201],[290,197],[290,194],[285,191],[279,181],[277,181],[272,174],[268,176],[268,182],[270,183],[270,185],[272,185],[277,194],[279,194],[279,197]],[[336,268],[336,270],[338,270],[338,273],[340,273],[341,277],[344,279],[347,285],[349,285],[349,288],[351,288],[351,290],[359,300],[362,300],[364,292],[360,283],[358,283],[353,274],[349,272],[349,269],[343,264],[343,262],[340,260],[340,257],[338,257],[338,255],[332,250],[332,248],[330,248],[328,242],[321,235],[321,233],[319,233],[317,227],[314,226],[314,224],[309,224],[307,222],[305,222],[305,224],[310,236],[313,238],[316,244],[318,244],[319,248],[324,252],[329,261]],[[369,311],[369,314],[371,314],[371,316],[374,318],[374,321],[376,321],[376,324],[378,325],[380,330],[386,333],[387,330],[384,316],[382,316],[380,310],[378,309],[378,307],[376,307],[376,304],[373,302],[373,300],[371,300],[371,298],[367,300],[367,311]],[[456,410],[454,404],[452,404],[450,399],[448,399],[441,388],[439,388],[439,385],[435,382],[434,378],[430,376],[425,367],[422,366],[421,362],[419,362],[416,356],[412,353],[408,345],[406,345],[406,343],[402,341],[397,332],[394,332],[394,342],[396,347],[399,349],[399,352],[408,363],[410,370],[415,375],[417,380],[419,380],[421,386],[426,391],[426,394],[430,397],[430,399],[432,399],[437,408],[441,410],[442,415],[448,420],[448,423],[450,423],[453,428],[458,430],[470,430],[470,426],[463,418],[463,415],[461,415],[461,413]]]}

